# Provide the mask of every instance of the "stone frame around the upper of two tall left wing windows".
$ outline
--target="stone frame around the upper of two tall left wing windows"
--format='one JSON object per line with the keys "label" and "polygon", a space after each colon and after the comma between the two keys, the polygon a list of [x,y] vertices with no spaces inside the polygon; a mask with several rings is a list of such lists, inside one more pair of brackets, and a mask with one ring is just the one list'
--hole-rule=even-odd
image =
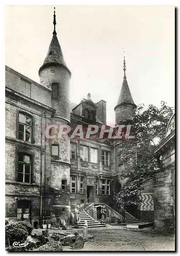
{"label": "stone frame around the upper of two tall left wing windows", "polygon": [[[29,116],[31,118],[31,142],[19,139],[19,114]],[[35,117],[32,115],[32,113],[29,113],[28,111],[24,111],[24,110],[21,110],[21,109],[17,109],[17,113],[16,113],[16,138],[19,141],[24,141],[26,143],[31,143],[31,144],[35,143]]]}

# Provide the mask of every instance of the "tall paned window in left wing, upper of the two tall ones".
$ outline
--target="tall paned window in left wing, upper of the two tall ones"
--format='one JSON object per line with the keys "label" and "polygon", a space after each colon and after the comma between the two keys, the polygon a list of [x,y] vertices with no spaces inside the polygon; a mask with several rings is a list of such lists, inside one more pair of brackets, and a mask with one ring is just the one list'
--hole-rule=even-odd
{"label": "tall paned window in left wing, upper of the two tall ones", "polygon": [[19,113],[19,133],[20,140],[31,142],[32,118]]}

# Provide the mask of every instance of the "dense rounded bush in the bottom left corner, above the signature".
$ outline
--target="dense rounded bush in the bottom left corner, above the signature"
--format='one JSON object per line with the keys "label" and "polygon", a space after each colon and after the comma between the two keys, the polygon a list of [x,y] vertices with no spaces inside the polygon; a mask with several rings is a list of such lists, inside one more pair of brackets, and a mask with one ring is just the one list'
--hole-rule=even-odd
{"label": "dense rounded bush in the bottom left corner, above the signature", "polygon": [[12,222],[6,225],[6,245],[7,241],[9,245],[13,242],[24,243],[32,231],[32,225],[25,221]]}

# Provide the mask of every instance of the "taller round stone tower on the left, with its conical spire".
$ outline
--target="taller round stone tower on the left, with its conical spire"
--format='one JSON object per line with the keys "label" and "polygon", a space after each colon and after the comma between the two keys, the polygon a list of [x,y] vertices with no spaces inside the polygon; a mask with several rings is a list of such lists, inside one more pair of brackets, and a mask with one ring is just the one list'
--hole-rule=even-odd
{"label": "taller round stone tower on the left, with its conical spire", "polygon": [[[55,9],[55,8],[54,8]],[[49,50],[39,69],[42,86],[51,90],[52,124],[70,125],[70,79],[71,72],[66,66],[56,33],[56,14],[54,10],[54,31]],[[70,137],[58,138],[49,142],[51,158],[51,212],[55,222],[60,219],[69,221],[70,217]],[[62,188],[63,187],[63,188]],[[62,211],[62,206],[65,208]]]}

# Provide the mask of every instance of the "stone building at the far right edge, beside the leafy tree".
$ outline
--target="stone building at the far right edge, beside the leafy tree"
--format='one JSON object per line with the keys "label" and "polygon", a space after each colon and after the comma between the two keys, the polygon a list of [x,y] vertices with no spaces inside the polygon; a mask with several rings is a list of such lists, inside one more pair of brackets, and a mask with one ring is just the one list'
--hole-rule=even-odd
{"label": "stone building at the far right edge, beside the leafy tree", "polygon": [[156,147],[159,168],[154,171],[154,225],[158,230],[174,230],[175,221],[175,115],[163,141]]}

